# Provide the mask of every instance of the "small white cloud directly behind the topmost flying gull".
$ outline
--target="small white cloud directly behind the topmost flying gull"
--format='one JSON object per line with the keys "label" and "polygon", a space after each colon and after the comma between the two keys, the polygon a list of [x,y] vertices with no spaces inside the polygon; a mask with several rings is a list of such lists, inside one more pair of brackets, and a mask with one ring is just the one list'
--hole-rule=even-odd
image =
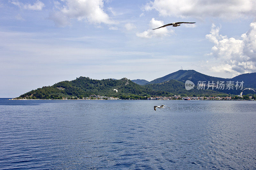
{"label": "small white cloud directly behind the topmost flying gull", "polygon": [[149,22],[149,29],[142,33],[136,33],[138,37],[141,38],[152,38],[152,37],[163,37],[168,36],[174,33],[174,30],[168,30],[167,27],[163,27],[161,29],[152,30],[152,28],[161,27],[164,25],[164,21],[155,20],[154,18],[151,19]]}

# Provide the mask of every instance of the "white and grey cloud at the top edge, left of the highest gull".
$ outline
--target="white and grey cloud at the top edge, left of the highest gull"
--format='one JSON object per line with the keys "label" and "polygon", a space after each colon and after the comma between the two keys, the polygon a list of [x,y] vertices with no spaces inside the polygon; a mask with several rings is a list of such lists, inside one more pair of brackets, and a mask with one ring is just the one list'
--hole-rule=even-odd
{"label": "white and grey cloud at the top edge, left of the highest gull", "polygon": [[67,26],[71,19],[86,20],[91,23],[115,24],[103,11],[103,0],[61,0],[55,2],[52,19],[58,26]]}

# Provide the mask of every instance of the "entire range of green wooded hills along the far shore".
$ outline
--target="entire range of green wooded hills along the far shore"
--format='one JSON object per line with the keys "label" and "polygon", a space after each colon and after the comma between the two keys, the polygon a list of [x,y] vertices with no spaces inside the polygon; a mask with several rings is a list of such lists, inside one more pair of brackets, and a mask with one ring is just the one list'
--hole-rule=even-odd
{"label": "entire range of green wooded hills along the far shore", "polygon": [[[179,70],[177,72],[168,74],[164,77],[155,79],[153,81],[146,80],[128,80],[123,78],[116,79],[102,79],[93,80],[89,77],[79,77],[72,81],[61,81],[52,86],[38,88],[31,90],[28,93],[21,95],[19,98],[33,98],[33,99],[60,99],[61,97],[89,97],[90,95],[100,95],[106,97],[119,98],[146,98],[148,96],[219,96],[219,95],[238,95],[241,89],[217,89],[211,90],[207,87],[204,89],[186,90],[184,82],[190,80],[197,86],[198,81],[208,81],[216,83],[217,81],[244,81],[244,88],[256,88],[256,73],[247,73],[238,75],[232,79],[224,79],[219,77],[212,77],[195,70]],[[135,82],[133,82],[135,81]],[[139,85],[138,83],[146,85]],[[226,86],[225,86],[226,87]],[[118,92],[113,89],[117,89]],[[252,91],[244,91],[244,93],[252,93]],[[146,96],[146,97],[145,97]]]}

